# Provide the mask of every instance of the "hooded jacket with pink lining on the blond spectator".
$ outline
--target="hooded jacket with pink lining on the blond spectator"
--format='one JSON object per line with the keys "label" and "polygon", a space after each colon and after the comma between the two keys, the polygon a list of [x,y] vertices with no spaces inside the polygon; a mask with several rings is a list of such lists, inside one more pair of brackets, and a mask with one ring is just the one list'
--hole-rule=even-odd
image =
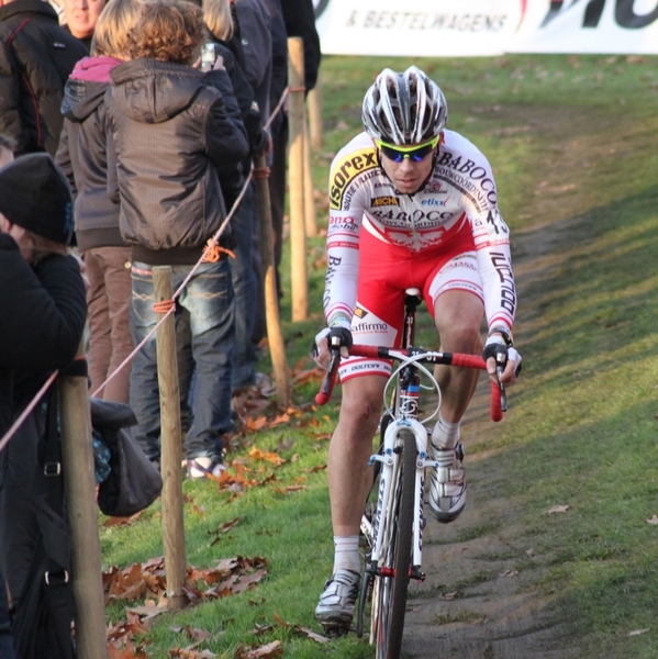
{"label": "hooded jacket with pink lining on the blond spectator", "polygon": [[81,250],[123,246],[119,231],[119,204],[108,192],[105,92],[110,71],[122,62],[114,57],[85,57],[64,88],[64,129],[56,161],[76,194],[76,238]]}

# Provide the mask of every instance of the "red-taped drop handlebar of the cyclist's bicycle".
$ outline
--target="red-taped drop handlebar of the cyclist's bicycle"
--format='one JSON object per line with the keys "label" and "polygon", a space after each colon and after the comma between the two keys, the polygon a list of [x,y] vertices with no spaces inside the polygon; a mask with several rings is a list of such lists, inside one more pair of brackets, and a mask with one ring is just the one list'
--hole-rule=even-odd
{"label": "red-taped drop handlebar of the cyclist's bicycle", "polygon": [[[467,355],[464,353],[440,353],[423,350],[420,348],[413,348],[409,350],[406,348],[353,345],[349,348],[349,355],[355,357],[369,357],[371,359],[401,359],[422,355],[423,357],[417,359],[417,361],[422,364],[443,364],[446,366],[487,370],[487,364],[482,357],[479,355]],[[326,404],[332,398],[339,361],[341,348],[332,348],[332,360],[326,369],[324,379],[322,380],[320,391],[315,395],[315,402],[319,405]],[[505,396],[503,386],[497,382],[491,382],[491,405],[489,413],[492,421],[502,420],[503,411],[506,409],[506,404],[501,404],[504,403],[504,400]]]}

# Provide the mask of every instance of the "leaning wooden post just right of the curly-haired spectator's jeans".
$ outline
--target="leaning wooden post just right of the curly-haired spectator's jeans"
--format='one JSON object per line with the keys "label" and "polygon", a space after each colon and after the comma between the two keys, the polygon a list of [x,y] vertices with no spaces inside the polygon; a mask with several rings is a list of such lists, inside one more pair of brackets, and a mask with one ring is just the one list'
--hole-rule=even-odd
{"label": "leaning wooden post just right of the curly-haired spectator's jeans", "polygon": [[265,315],[267,322],[267,343],[275,372],[277,402],[280,407],[290,404],[290,378],[286,362],[286,344],[281,333],[279,300],[277,295],[277,276],[275,271],[275,237],[271,222],[271,206],[267,178],[260,172],[267,171],[265,156],[256,158],[256,194],[258,200],[258,217],[260,219],[260,260],[265,290]]}

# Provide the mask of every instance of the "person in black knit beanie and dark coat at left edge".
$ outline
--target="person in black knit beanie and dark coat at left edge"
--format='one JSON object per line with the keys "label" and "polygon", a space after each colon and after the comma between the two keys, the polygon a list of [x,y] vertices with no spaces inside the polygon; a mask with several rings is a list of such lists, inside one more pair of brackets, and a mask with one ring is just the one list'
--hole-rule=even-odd
{"label": "person in black knit beanie and dark coat at left edge", "polygon": [[[79,264],[67,255],[71,233],[70,190],[49,155],[26,155],[0,169],[0,437],[49,375],[73,361],[80,345],[87,305]],[[16,619],[43,546],[42,524],[66,533],[64,511],[42,499],[46,485],[44,467],[38,467],[45,401],[53,389],[0,453],[0,568]],[[5,592],[4,580],[0,591]],[[3,604],[0,597],[0,649],[7,635]],[[68,635],[70,649],[70,629]],[[30,639],[14,641],[20,649]]]}

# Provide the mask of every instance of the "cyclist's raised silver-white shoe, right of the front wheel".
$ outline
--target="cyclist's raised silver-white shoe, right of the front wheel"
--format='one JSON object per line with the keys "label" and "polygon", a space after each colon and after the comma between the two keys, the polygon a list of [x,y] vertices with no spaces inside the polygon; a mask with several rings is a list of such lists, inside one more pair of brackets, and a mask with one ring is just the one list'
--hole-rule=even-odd
{"label": "cyclist's raised silver-white shoe, right of the front wheel", "polygon": [[464,447],[454,449],[432,447],[439,467],[432,469],[430,479],[430,507],[439,522],[447,524],[459,516],[466,505],[464,480]]}

